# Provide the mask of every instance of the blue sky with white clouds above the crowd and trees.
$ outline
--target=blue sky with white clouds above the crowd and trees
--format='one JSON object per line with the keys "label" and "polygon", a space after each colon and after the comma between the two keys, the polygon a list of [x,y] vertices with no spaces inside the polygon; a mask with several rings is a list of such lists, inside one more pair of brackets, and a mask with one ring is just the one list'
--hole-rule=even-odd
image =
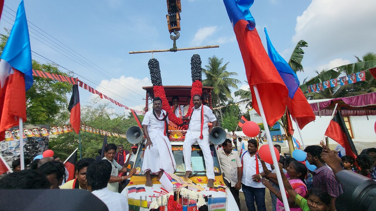
{"label": "blue sky with white clouds above the crowd and trees", "polygon": [[[71,53],[64,53],[30,33],[60,53],[30,38],[33,51],[83,75],[78,77],[124,105],[137,110],[144,106],[142,98],[145,92],[141,86],[151,85],[147,62],[152,55],[128,52],[172,47],[165,1],[24,1],[27,19],[31,23],[85,57],[87,60],[75,54],[97,70],[85,68],[87,65],[77,59],[73,59],[76,62],[68,59],[66,56],[71,57]],[[18,3],[18,0],[5,0],[5,5],[14,11]],[[11,28],[6,21],[14,22],[12,15],[15,14],[9,8],[4,7],[0,21],[2,32],[3,27]],[[255,0],[250,11],[264,46],[263,28],[267,27],[274,47],[286,60],[290,58],[297,41],[303,39],[308,42],[308,47],[303,49],[306,52],[303,59],[305,71],[297,74],[303,81],[305,77],[313,77],[315,69],[321,71],[323,68],[353,63],[356,62],[353,55],[362,56],[375,51],[375,9],[374,0],[356,3],[350,0]],[[178,48],[220,45],[220,48],[196,50],[203,66],[208,57],[216,55],[229,62],[228,71],[237,72],[239,80],[246,80],[243,60],[222,0],[182,0],[180,16]],[[35,26],[29,24],[29,27],[41,32]],[[194,53],[191,50],[153,54],[160,63],[164,85],[191,85],[190,58]],[[35,56],[33,59],[45,62]],[[97,74],[98,71],[101,73]],[[247,84],[239,84],[239,87],[246,89]],[[83,104],[92,98],[90,93],[80,89]],[[113,107],[115,112],[125,111],[116,105]]]}

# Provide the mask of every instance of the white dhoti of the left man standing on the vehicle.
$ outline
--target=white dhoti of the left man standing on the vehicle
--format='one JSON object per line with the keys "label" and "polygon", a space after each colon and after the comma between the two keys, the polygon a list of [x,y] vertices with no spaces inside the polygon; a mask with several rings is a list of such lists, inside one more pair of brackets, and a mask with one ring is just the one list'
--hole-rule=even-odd
{"label": "white dhoti of the left man standing on the vehicle", "polygon": [[[150,135],[150,133],[149,133]],[[146,174],[150,170],[152,174],[158,174],[161,171],[174,173],[176,163],[171,151],[170,140],[161,133],[150,136],[153,146],[145,148],[142,171]]]}

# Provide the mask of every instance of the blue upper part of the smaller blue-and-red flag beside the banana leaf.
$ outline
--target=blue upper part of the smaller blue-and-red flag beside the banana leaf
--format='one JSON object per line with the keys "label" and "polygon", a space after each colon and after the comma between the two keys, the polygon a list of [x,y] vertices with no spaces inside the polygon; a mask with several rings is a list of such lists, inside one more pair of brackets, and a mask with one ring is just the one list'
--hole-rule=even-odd
{"label": "blue upper part of the smaller blue-and-red flag beside the banana leaf", "polygon": [[296,90],[299,88],[299,79],[296,76],[296,73],[291,68],[291,66],[285,61],[284,58],[282,58],[282,56],[279,55],[277,50],[274,48],[273,44],[270,41],[266,28],[264,28],[264,31],[266,36],[269,58],[276,67],[280,77],[285,82],[286,87],[288,89],[288,96],[290,98],[293,98]]}

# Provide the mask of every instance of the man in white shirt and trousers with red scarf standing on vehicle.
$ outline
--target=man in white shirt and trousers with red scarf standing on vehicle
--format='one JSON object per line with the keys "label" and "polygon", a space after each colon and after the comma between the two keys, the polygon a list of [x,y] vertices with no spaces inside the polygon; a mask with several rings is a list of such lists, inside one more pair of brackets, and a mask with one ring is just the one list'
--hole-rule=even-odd
{"label": "man in white shirt and trousers with red scarf standing on vehicle", "polygon": [[217,126],[217,118],[214,116],[212,110],[202,104],[200,95],[193,96],[193,111],[190,117],[183,118],[189,120],[188,130],[185,135],[183,144],[183,156],[185,163],[185,176],[188,178],[192,173],[191,167],[191,151],[192,145],[198,143],[205,159],[206,176],[208,177],[208,187],[214,186],[214,162],[209,146],[209,130],[208,123],[212,122],[213,127]]}

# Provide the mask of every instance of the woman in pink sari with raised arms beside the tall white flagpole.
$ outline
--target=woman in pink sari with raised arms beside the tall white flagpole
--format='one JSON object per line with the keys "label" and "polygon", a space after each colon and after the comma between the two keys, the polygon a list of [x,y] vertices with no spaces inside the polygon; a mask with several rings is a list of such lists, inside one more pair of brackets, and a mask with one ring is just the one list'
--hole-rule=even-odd
{"label": "woman in pink sari with raised arms beside the tall white flagpole", "polygon": [[[277,181],[277,175],[275,173],[271,173],[269,170],[267,170],[265,162],[261,160],[262,168],[264,169],[265,176],[269,178],[271,181],[273,181],[275,184],[278,184]],[[287,170],[287,173],[285,174],[285,177],[288,178],[288,182],[290,183],[291,187],[293,187],[294,191],[298,193],[300,196],[305,197],[307,194],[307,187],[305,185],[305,176],[307,175],[307,168],[304,164],[299,163],[298,161],[294,160],[290,164],[285,165],[285,169]],[[270,184],[269,181],[266,179],[262,180],[262,184],[267,187],[271,193],[277,196],[277,211],[283,211],[285,210],[284,204],[282,202],[282,195],[280,191],[277,191],[273,188],[273,186]],[[295,199],[288,196],[287,194],[287,200],[290,206],[291,211],[302,211],[302,209],[295,203]]]}

